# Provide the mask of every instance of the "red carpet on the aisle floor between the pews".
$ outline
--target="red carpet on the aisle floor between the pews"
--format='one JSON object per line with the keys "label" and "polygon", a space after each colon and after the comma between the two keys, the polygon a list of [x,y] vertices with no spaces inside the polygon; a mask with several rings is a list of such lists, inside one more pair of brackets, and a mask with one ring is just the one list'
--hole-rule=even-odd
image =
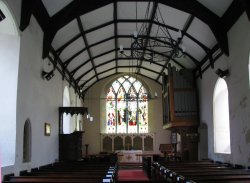
{"label": "red carpet on the aisle floor between the pews", "polygon": [[141,169],[119,170],[118,183],[149,183],[147,175]]}

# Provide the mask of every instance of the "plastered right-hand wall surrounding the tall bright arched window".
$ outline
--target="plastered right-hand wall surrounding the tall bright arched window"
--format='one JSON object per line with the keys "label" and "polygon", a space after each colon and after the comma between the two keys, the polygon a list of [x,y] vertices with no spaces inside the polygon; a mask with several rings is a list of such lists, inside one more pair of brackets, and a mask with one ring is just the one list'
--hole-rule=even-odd
{"label": "plastered right-hand wall surrounding the tall bright arched window", "polygon": [[[207,124],[208,137],[201,136],[199,158],[208,158],[234,164],[250,165],[250,91],[249,91],[249,51],[250,23],[244,13],[228,32],[229,56],[222,56],[209,68],[202,79],[197,79],[200,101],[200,122]],[[213,134],[213,92],[218,76],[215,70],[229,69],[226,78],[229,95],[229,120],[231,134],[231,154],[214,153]],[[202,148],[208,143],[208,152]]]}

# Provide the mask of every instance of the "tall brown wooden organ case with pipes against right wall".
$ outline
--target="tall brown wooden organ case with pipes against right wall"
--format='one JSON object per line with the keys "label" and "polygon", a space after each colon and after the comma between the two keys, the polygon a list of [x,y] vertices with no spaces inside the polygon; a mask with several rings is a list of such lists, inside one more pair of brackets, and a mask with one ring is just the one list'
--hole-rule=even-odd
{"label": "tall brown wooden organ case with pipes against right wall", "polygon": [[169,65],[162,79],[163,128],[171,130],[171,142],[181,159],[197,160],[199,123],[193,71],[177,71]]}

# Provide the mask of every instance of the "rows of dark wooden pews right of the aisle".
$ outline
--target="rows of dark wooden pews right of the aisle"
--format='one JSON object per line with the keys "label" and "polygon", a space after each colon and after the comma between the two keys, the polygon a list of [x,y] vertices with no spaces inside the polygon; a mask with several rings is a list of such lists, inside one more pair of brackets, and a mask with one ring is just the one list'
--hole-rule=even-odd
{"label": "rows of dark wooden pews right of the aisle", "polygon": [[234,169],[229,164],[206,162],[153,163],[153,182],[250,182],[250,170]]}

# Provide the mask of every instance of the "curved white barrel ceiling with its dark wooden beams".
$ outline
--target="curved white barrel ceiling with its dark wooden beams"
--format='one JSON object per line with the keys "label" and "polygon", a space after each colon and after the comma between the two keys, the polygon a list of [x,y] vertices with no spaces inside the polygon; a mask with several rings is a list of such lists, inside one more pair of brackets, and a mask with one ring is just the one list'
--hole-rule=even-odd
{"label": "curved white barrel ceiling with its dark wooden beams", "polygon": [[[236,10],[240,3],[233,0],[34,0],[32,3],[33,6],[28,0],[22,2],[20,29],[28,26],[31,14],[36,17],[44,31],[43,57],[48,57],[79,93],[119,73],[136,72],[161,83],[169,64],[177,69],[193,69],[195,75],[201,76],[206,67],[213,67],[217,57],[229,54],[227,31],[243,12],[243,8]],[[151,41],[169,44],[159,38],[168,29],[176,49],[184,50],[184,55],[175,58],[174,54],[164,53],[166,48],[144,46],[143,55],[153,53],[164,61],[148,62],[142,57],[124,56],[131,54],[133,32],[139,32],[142,25],[147,27],[139,34],[145,45]]]}

